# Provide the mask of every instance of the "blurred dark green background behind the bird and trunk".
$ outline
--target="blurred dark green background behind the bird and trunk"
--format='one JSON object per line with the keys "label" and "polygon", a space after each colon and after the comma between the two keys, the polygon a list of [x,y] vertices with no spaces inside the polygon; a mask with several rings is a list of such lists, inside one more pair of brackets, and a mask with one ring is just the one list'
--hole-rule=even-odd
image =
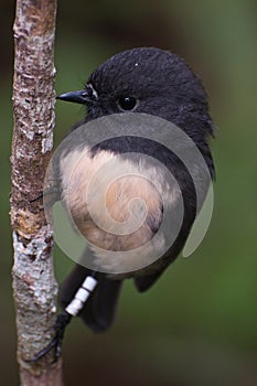
{"label": "blurred dark green background behind the bird and trunk", "polygon": [[[9,226],[14,2],[2,1],[1,313],[2,385],[18,385]],[[138,294],[127,281],[117,322],[94,335],[74,320],[64,342],[67,386],[257,385],[257,3],[254,0],[138,0],[58,3],[56,92],[81,88],[99,63],[133,46],[182,55],[201,76],[216,125],[214,214],[188,259]],[[82,117],[56,105],[55,143]],[[60,281],[72,262],[55,250]]]}

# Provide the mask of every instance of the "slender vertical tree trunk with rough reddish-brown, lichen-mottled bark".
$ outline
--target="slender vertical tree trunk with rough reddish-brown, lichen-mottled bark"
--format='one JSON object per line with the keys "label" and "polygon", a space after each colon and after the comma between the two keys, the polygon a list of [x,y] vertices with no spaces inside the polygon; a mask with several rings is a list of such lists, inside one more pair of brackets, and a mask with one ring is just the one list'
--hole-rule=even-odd
{"label": "slender vertical tree trunk with rough reddish-brown, lichen-mottled bark", "polygon": [[57,286],[53,272],[53,229],[42,200],[54,126],[54,32],[56,0],[17,0],[11,223],[18,362],[23,386],[62,385],[61,361],[52,353],[30,363],[52,337]]}

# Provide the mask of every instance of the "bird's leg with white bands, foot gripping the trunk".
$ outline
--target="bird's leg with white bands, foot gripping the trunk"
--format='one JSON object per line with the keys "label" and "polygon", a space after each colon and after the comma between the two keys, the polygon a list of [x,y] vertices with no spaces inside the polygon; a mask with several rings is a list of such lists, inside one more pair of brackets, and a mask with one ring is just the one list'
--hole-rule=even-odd
{"label": "bird's leg with white bands, foot gripping the trunk", "polygon": [[83,309],[83,307],[85,305],[85,302],[87,301],[90,293],[94,291],[96,285],[97,285],[97,280],[93,276],[87,276],[85,278],[82,286],[78,288],[77,292],[75,293],[73,300],[67,304],[65,310],[57,315],[56,322],[53,326],[55,330],[55,335],[50,342],[50,344],[47,344],[47,346],[45,346],[38,354],[35,354],[32,357],[32,360],[30,360],[29,362],[39,361],[45,354],[47,354],[52,349],[55,350],[54,362],[58,360],[58,357],[61,356],[62,341],[63,341],[65,329],[67,324],[71,322],[72,318],[76,317],[78,312]]}

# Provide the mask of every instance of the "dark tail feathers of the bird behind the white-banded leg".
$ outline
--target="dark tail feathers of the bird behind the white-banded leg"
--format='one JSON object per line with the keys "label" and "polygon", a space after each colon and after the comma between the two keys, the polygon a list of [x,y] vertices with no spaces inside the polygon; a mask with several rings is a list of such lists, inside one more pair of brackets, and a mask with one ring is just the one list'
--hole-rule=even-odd
{"label": "dark tail feathers of the bird behind the white-banded leg", "polygon": [[[61,303],[65,308],[74,298],[84,279],[92,271],[76,265],[61,288]],[[115,318],[116,305],[119,298],[122,281],[109,280],[104,274],[97,276],[98,283],[86,301],[78,317],[94,331],[107,330]]]}

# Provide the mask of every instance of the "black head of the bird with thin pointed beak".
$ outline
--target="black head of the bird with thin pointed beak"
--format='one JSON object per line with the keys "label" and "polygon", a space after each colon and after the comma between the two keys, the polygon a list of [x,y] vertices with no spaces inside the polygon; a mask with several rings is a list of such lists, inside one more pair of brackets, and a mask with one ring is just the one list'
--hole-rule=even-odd
{"label": "black head of the bird with thin pointed beak", "polygon": [[172,121],[196,142],[213,135],[201,81],[178,55],[140,47],[114,55],[85,88],[57,97],[87,107],[86,121],[118,112],[144,112]]}

